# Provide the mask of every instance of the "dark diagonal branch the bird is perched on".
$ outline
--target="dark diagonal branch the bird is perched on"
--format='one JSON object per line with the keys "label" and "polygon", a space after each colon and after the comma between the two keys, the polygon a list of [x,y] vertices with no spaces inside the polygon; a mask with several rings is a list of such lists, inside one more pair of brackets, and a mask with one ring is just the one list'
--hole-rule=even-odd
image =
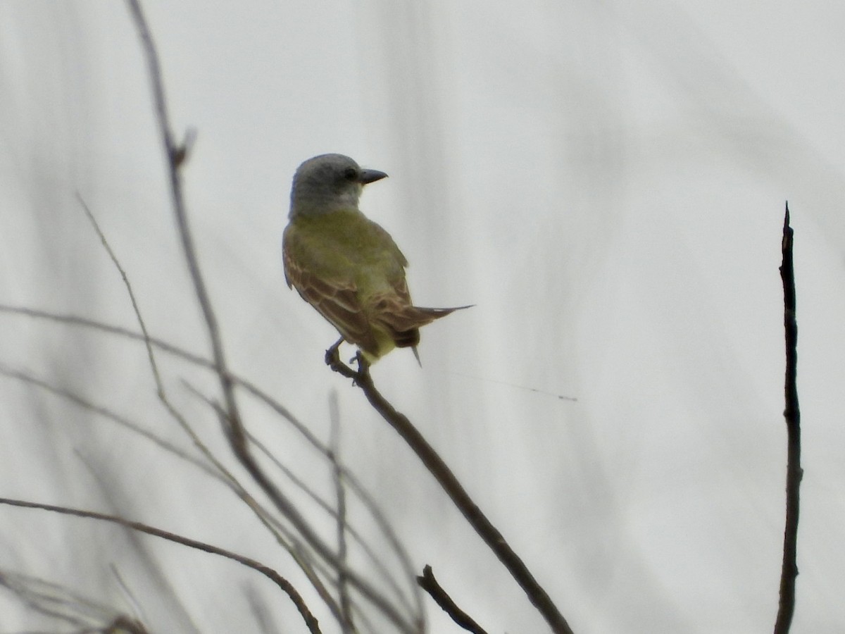
{"label": "dark diagonal branch the bird is perched on", "polygon": [[502,533],[499,533],[499,529],[493,526],[493,523],[478,508],[475,501],[466,493],[466,489],[463,488],[463,485],[446,465],[443,458],[439,456],[437,451],[434,451],[433,447],[428,444],[428,440],[425,440],[412,422],[404,414],[398,412],[376,389],[373,377],[369,372],[369,365],[360,353],[358,353],[357,361],[358,369],[356,371],[341,362],[337,347],[332,347],[326,351],[325,362],[335,372],[352,379],[353,384],[361,388],[370,405],[395,429],[396,433],[401,435],[402,439],[428,468],[440,487],[444,489],[446,495],[449,495],[466,521],[475,529],[484,543],[493,550],[499,561],[510,572],[511,577],[514,577],[515,581],[525,591],[528,599],[542,614],[552,631],[555,634],[572,634],[569,624],[560,614],[548,593],[537,582],[519,555],[516,555],[514,549],[510,548],[510,544],[505,541]]}

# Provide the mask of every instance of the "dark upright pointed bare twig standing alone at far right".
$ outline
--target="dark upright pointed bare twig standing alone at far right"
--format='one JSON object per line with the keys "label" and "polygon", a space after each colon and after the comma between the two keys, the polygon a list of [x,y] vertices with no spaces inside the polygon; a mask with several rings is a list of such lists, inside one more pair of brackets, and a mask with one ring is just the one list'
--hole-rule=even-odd
{"label": "dark upright pointed bare twig standing alone at far right", "polygon": [[775,634],[786,634],[792,626],[795,611],[795,579],[798,577],[799,489],[804,469],[801,468],[801,411],[798,404],[798,322],[795,319],[795,269],[793,266],[793,228],[789,226],[789,204],[783,218],[781,244],[783,281],[783,330],[786,339],[786,379],[783,412],[787,423],[787,517],[783,529],[783,561],[781,567],[780,602],[775,621]]}

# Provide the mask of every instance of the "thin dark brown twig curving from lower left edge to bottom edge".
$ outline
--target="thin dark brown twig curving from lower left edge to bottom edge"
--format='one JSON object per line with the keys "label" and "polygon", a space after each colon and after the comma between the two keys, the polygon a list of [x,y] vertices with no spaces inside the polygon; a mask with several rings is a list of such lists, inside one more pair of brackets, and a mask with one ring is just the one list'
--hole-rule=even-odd
{"label": "thin dark brown twig curving from lower left edge to bottom edge", "polygon": [[123,517],[106,515],[95,511],[82,511],[80,509],[68,508],[66,506],[39,504],[37,502],[29,502],[25,500],[9,500],[8,498],[0,498],[0,504],[19,506],[27,509],[53,511],[55,513],[61,513],[62,515],[87,517],[89,519],[101,520],[102,522],[112,522],[113,524],[118,524],[134,531],[139,531],[140,533],[146,533],[154,537],[166,539],[167,541],[175,544],[182,544],[183,546],[188,546],[188,548],[202,550],[203,552],[210,553],[211,555],[220,555],[226,559],[237,561],[237,563],[243,566],[247,566],[248,568],[252,568],[254,571],[260,572],[264,575],[264,577],[267,577],[270,581],[274,582],[287,594],[287,596],[291,598],[293,604],[297,606],[299,614],[303,616],[303,620],[305,620],[305,624],[308,626],[308,631],[312,632],[312,634],[319,634],[320,632],[317,619],[313,614],[311,614],[311,610],[308,609],[308,605],[305,604],[302,596],[297,592],[297,589],[292,586],[291,582],[288,582],[284,577],[281,577],[281,575],[270,568],[270,566],[264,566],[264,564],[259,561],[250,559],[249,557],[245,557],[243,555],[237,555],[237,553],[233,553],[230,550],[221,549],[217,546],[212,546],[211,544],[199,542],[196,539],[183,537],[182,535],[177,535],[176,533],[170,533],[169,531],[162,530],[161,528],[151,527],[141,522],[132,522],[130,520],[123,519]]}

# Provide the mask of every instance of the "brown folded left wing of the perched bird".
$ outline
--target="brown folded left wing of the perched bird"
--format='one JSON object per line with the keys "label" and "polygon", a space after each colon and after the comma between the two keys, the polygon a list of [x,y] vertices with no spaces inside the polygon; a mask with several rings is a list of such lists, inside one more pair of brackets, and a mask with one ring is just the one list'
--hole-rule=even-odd
{"label": "brown folded left wing of the perched bird", "polygon": [[287,285],[296,288],[347,342],[368,353],[378,353],[379,344],[358,298],[354,277],[341,272],[333,262],[321,261],[319,249],[309,249],[308,240],[292,225],[285,230],[282,254]]}

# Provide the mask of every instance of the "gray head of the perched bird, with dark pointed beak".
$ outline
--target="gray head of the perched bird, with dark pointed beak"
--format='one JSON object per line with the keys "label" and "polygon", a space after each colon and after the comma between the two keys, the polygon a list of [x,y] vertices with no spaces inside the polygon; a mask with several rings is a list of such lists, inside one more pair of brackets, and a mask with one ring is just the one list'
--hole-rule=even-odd
{"label": "gray head of the perched bird, with dark pointed beak", "polygon": [[387,174],[362,169],[349,156],[321,154],[297,167],[291,188],[289,216],[319,216],[357,209],[363,186]]}

